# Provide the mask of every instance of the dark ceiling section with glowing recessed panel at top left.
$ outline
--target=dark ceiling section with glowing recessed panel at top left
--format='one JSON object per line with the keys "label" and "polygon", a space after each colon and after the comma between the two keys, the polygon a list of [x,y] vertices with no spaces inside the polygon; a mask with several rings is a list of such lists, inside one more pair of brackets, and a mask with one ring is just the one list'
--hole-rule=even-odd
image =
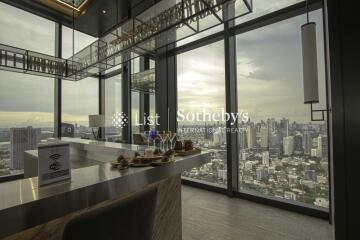
{"label": "dark ceiling section with glowing recessed panel at top left", "polygon": [[[0,1],[49,20],[62,23],[67,27],[72,28],[73,26],[72,14],[44,4],[44,2],[49,2],[48,0]],[[52,0],[51,2],[54,1]],[[72,5],[72,0],[56,1],[62,2],[62,5],[70,2]],[[75,0],[75,7],[81,8],[82,5],[85,5],[83,2],[85,1]],[[125,21],[132,15],[137,15],[155,2],[156,0],[89,0],[82,14],[75,17],[74,28],[91,36],[101,37],[113,29],[119,22]]]}

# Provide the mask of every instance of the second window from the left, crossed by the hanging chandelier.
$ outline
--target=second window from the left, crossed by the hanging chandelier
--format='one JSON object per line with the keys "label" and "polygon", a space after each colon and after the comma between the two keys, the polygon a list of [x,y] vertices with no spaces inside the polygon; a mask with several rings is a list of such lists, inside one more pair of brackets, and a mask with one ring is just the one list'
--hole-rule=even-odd
{"label": "second window from the left, crossed by the hanging chandelier", "polygon": [[[74,40],[74,41],[73,41]],[[62,27],[62,57],[67,59],[93,43],[96,38]],[[74,49],[73,49],[74,48]],[[62,136],[92,138],[89,115],[99,113],[99,79],[62,81]]]}

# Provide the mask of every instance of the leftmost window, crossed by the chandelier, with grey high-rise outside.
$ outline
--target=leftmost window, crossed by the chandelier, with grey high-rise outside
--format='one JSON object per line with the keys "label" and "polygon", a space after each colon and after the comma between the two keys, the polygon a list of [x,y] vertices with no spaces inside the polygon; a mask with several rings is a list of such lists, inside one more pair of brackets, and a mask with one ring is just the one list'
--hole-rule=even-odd
{"label": "leftmost window, crossed by the chandelier, with grey high-rise outside", "polygon": [[[55,24],[0,3],[0,43],[55,53]],[[54,133],[54,79],[0,71],[0,178],[23,172],[23,152]]]}

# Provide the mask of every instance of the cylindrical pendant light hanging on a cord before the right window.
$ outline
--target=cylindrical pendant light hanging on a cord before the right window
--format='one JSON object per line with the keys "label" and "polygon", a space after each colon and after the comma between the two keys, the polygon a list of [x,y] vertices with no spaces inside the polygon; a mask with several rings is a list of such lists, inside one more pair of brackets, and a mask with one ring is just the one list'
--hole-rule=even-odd
{"label": "cylindrical pendant light hanging on a cord before the right window", "polygon": [[305,104],[319,102],[316,24],[309,22],[308,2],[306,8],[307,23],[301,26]]}

